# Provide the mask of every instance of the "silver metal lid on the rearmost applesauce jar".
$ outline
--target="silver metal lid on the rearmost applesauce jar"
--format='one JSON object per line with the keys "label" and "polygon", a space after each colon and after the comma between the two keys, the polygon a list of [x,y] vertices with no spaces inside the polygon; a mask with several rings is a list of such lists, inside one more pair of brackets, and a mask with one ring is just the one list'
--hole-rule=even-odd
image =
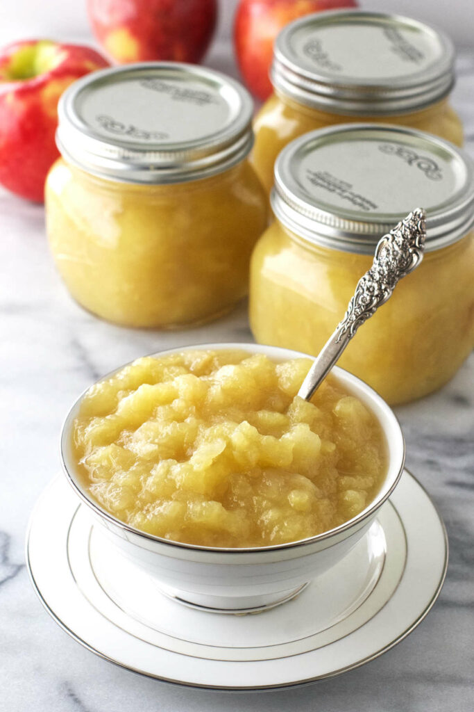
{"label": "silver metal lid on the rearmost applesauce jar", "polygon": [[271,80],[298,103],[348,115],[396,115],[441,100],[454,83],[443,33],[380,12],[336,10],[290,23],[276,38]]}

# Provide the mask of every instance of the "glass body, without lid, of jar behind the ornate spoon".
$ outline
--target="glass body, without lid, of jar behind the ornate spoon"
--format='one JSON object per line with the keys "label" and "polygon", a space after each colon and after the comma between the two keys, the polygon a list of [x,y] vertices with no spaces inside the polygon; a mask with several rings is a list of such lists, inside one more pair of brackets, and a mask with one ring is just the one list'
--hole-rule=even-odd
{"label": "glass body, without lid, of jar behind the ornate spoon", "polygon": [[[323,248],[275,221],[251,263],[250,323],[260,343],[317,355],[343,318],[372,256]],[[338,365],[389,404],[438,389],[474,344],[474,233],[426,253],[357,331]]]}

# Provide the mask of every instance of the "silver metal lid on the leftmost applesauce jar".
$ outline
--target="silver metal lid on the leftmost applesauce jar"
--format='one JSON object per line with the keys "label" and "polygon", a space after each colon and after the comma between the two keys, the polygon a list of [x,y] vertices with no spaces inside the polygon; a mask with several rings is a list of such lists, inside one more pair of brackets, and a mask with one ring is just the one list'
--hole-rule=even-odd
{"label": "silver metal lid on the leftmost applesauce jar", "polygon": [[129,183],[208,177],[252,148],[252,99],[220,72],[149,62],[86,75],[58,106],[56,142],[83,170]]}

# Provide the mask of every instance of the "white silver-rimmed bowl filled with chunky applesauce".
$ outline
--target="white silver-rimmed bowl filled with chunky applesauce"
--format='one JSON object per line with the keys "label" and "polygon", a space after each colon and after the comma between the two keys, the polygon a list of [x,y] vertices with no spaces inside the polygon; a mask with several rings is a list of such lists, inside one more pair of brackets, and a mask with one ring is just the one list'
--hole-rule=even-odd
{"label": "white silver-rimmed bowl filled with chunky applesauce", "polygon": [[397,486],[404,439],[384,400],[335,367],[255,344],[140,358],[65,420],[65,476],[121,555],[181,602],[217,612],[296,595],[367,533]]}

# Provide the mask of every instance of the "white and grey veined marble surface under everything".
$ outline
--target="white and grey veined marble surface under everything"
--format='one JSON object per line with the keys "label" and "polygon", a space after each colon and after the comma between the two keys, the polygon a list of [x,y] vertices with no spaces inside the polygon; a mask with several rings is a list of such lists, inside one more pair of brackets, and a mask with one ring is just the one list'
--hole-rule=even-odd
{"label": "white and grey veined marble surface under everything", "polygon": [[[225,47],[211,66],[232,70]],[[460,57],[454,104],[474,155],[474,53]],[[468,712],[474,707],[474,357],[441,392],[397,409],[407,466],[433,496],[451,558],[441,598],[419,629],[338,679],[239,696],[169,686],[112,666],[41,607],[23,556],[26,524],[59,469],[61,422],[77,394],[123,362],[163,347],[251,338],[244,306],[199,330],[115,328],[78,308],[48,254],[43,209],[0,192],[0,710]]]}

